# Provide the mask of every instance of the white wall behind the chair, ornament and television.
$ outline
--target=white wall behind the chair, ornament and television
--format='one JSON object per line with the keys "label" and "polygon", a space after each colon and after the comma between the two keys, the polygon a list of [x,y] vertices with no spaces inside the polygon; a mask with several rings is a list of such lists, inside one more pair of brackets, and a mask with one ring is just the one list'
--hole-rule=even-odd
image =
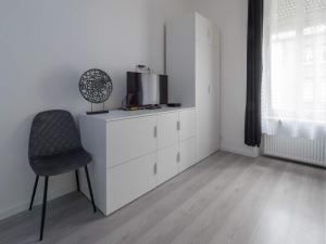
{"label": "white wall behind the chair, ornament and television", "polygon": [[[50,108],[89,110],[77,85],[92,67],[110,74],[110,107],[118,107],[126,70],[143,63],[163,72],[163,23],[187,11],[184,0],[0,2],[0,219],[28,205],[33,116]],[[72,175],[50,178],[50,198],[74,189]]]}

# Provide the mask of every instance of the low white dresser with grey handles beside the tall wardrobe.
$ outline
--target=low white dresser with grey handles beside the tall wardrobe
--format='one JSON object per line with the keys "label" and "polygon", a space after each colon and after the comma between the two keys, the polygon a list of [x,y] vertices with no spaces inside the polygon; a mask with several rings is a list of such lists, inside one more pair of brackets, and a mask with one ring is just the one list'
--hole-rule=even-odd
{"label": "low white dresser with grey handles beside the tall wardrobe", "polygon": [[[110,215],[196,163],[196,110],[80,115],[97,206]],[[82,188],[83,189],[83,188]]]}

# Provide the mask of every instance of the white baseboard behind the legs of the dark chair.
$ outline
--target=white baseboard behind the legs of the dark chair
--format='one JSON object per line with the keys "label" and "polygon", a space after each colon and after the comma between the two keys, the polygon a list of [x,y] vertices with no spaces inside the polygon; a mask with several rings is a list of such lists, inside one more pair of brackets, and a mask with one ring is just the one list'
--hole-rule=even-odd
{"label": "white baseboard behind the legs of the dark chair", "polygon": [[[48,201],[51,201],[51,200],[54,200],[54,198],[58,198],[60,196],[63,196],[63,195],[66,195],[71,192],[74,192],[76,191],[76,188],[74,185],[67,185],[67,187],[63,187],[63,188],[60,188],[60,189],[57,189],[52,192],[49,192],[49,195],[48,195]],[[17,204],[13,207],[10,207],[10,208],[7,208],[7,209],[1,209],[0,210],[0,220],[1,219],[5,219],[10,216],[13,216],[13,215],[16,215],[21,211],[24,211],[24,210],[27,210],[28,207],[29,207],[29,201],[25,201],[21,204]],[[40,196],[36,196],[35,197],[35,202],[34,202],[34,206],[37,206],[41,204],[41,197]]]}

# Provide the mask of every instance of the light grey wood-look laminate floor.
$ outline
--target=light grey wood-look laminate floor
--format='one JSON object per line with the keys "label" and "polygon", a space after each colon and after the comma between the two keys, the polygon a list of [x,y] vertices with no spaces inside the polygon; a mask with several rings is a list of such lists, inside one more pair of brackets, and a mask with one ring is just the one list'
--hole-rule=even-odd
{"label": "light grey wood-look laminate floor", "polygon": [[[106,218],[78,193],[48,206],[42,243],[326,243],[326,171],[266,157],[220,152]],[[0,243],[37,243],[39,216],[0,221]]]}

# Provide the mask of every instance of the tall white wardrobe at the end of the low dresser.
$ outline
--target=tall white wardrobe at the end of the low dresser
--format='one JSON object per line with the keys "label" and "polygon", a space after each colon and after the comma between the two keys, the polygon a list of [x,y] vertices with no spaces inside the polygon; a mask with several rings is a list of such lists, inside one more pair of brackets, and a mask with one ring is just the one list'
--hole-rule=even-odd
{"label": "tall white wardrobe at the end of the low dresser", "polygon": [[220,149],[220,33],[199,13],[166,25],[170,102],[195,106],[197,160]]}

